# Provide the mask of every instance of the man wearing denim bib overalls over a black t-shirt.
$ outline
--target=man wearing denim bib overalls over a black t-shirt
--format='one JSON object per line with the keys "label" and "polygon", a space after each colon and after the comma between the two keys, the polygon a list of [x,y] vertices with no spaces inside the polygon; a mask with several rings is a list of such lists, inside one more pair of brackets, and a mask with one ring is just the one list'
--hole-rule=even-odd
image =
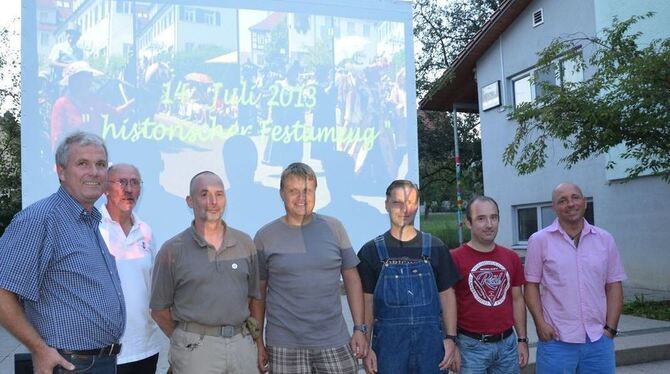
{"label": "man wearing denim bib overalls over a black t-shirt", "polygon": [[392,182],[386,189],[391,229],[358,253],[365,293],[361,327],[372,330],[368,373],[440,373],[460,365],[452,288],[460,276],[442,241],[414,227],[418,207],[414,183]]}

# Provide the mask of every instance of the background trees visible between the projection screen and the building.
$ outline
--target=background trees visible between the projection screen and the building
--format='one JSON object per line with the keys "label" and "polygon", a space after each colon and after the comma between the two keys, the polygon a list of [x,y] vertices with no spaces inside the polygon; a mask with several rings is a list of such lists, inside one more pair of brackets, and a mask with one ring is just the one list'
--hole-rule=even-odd
{"label": "background trees visible between the projection screen and the building", "polygon": [[[472,40],[500,0],[414,2],[417,97],[425,95],[437,78]],[[462,190],[482,193],[479,116],[458,116]],[[455,197],[454,137],[451,113],[421,112],[418,116],[419,169],[424,201]]]}

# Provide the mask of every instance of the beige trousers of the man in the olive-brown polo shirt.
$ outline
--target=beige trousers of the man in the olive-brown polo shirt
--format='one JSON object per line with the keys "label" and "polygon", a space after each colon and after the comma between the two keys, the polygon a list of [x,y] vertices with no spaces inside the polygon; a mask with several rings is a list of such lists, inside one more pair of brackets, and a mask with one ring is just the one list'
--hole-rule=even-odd
{"label": "beige trousers of the man in the olive-brown polo shirt", "polygon": [[256,373],[258,351],[250,335],[222,338],[176,328],[170,338],[168,361],[174,374]]}

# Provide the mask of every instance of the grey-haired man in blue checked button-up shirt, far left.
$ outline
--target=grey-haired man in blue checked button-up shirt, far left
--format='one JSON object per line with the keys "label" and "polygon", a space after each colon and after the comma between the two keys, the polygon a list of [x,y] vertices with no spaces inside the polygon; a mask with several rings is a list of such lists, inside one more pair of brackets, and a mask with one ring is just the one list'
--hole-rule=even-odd
{"label": "grey-haired man in blue checked button-up shirt, far left", "polygon": [[56,171],[58,191],[17,213],[0,238],[0,323],[30,350],[35,373],[114,373],[125,307],[93,206],[107,184],[102,139],[68,136]]}

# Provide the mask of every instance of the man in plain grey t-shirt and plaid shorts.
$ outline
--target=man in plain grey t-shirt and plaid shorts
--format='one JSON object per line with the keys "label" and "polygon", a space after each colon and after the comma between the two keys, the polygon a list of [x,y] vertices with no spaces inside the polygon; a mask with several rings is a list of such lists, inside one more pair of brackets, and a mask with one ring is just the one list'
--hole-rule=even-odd
{"label": "man in plain grey t-shirt and plaid shorts", "polygon": [[[263,371],[354,374],[356,359],[367,355],[358,258],[342,224],[313,213],[315,192],[314,171],[303,163],[289,165],[280,186],[286,215],[254,239],[264,302],[252,303],[252,315],[267,318],[267,347],[258,344]],[[340,275],[355,324],[351,340],[342,316]]]}

